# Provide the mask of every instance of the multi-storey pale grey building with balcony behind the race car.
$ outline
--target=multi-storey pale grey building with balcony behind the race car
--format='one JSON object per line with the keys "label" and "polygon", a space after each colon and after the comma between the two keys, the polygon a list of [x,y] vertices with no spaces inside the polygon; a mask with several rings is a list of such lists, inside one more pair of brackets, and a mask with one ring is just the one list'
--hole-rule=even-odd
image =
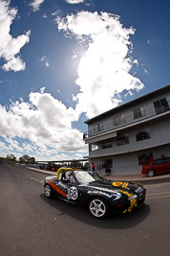
{"label": "multi-storey pale grey building with balcony behind the race car", "polygon": [[85,122],[90,164],[105,175],[140,174],[149,156],[170,156],[170,84]]}

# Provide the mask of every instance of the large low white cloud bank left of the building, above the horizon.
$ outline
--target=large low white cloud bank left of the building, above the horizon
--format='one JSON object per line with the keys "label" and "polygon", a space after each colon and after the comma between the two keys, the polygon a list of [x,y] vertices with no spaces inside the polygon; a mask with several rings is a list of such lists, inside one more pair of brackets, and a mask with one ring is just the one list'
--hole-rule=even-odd
{"label": "large low white cloud bank left of the building, above the horizon", "polygon": [[[9,110],[0,105],[0,134],[17,151],[38,151],[50,156],[58,151],[87,151],[83,142],[83,134],[72,128],[72,122],[78,120],[76,111],[67,108],[49,93],[32,92],[29,102],[15,102]],[[16,137],[29,139],[20,147]],[[39,157],[42,155],[39,155]]]}

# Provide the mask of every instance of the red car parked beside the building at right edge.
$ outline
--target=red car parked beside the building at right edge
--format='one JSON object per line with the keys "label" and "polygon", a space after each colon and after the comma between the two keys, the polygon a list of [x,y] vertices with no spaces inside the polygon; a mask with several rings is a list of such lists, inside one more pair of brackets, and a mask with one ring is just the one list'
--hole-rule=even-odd
{"label": "red car parked beside the building at right edge", "polygon": [[154,159],[152,163],[143,165],[141,174],[152,177],[170,173],[170,157],[164,156]]}

